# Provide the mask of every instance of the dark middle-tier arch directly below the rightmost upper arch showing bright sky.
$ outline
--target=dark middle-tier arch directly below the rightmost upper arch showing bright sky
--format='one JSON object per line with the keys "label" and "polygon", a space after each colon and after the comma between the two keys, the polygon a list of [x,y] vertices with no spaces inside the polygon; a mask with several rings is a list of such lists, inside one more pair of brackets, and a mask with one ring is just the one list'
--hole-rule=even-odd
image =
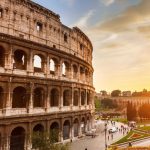
{"label": "dark middle-tier arch directly below the rightmost upper arch showing bright sky", "polygon": [[63,92],[63,106],[69,106],[71,100],[71,92],[70,90],[65,90]]}

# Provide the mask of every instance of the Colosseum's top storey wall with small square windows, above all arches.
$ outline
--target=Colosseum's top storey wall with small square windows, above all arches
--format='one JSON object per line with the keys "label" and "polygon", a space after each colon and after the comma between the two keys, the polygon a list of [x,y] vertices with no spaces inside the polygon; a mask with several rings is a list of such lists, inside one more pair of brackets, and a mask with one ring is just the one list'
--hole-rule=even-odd
{"label": "Colosseum's top storey wall with small square windows, above all arches", "polygon": [[[60,49],[91,63],[93,47],[80,29],[66,27],[58,15],[52,11],[48,14],[47,9],[43,12],[44,7],[38,4],[37,8],[32,1],[5,1],[0,3],[2,33]],[[13,26],[10,28],[9,24]]]}

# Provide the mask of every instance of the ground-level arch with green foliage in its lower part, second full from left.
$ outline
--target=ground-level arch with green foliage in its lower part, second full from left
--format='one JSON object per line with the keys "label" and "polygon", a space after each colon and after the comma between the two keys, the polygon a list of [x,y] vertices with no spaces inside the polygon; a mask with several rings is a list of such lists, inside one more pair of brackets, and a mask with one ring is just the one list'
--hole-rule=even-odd
{"label": "ground-level arch with green foliage in its lower part, second full from left", "polygon": [[33,149],[40,149],[43,146],[43,141],[44,137],[44,127],[41,124],[37,124],[33,128],[33,133],[32,133],[32,148]]}

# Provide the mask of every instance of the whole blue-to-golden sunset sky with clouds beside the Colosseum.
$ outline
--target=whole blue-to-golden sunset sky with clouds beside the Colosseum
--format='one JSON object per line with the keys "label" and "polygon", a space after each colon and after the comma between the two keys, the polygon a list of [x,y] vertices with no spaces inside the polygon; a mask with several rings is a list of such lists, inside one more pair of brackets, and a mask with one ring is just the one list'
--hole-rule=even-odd
{"label": "whole blue-to-golden sunset sky with clouds beside the Colosseum", "polygon": [[33,0],[93,44],[94,87],[150,90],[150,0]]}

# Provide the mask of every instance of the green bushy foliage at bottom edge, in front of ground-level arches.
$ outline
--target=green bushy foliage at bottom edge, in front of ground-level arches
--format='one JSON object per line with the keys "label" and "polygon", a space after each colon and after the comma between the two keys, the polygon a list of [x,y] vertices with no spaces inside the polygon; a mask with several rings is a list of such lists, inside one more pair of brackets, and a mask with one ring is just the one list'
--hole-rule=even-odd
{"label": "green bushy foliage at bottom edge, in front of ground-level arches", "polygon": [[46,132],[34,132],[32,135],[32,147],[38,150],[69,150],[68,144],[56,144],[58,131],[53,130],[49,135]]}

